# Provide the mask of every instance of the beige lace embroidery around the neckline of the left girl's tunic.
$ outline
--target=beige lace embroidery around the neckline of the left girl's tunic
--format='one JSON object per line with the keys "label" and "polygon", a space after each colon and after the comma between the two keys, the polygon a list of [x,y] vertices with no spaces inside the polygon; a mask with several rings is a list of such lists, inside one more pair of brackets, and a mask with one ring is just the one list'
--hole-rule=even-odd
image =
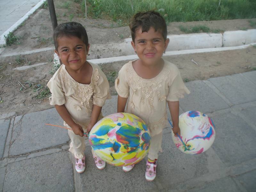
{"label": "beige lace embroidery around the neckline of the left girl's tunic", "polygon": [[76,110],[82,110],[81,107],[84,105],[86,113],[90,114],[90,104],[89,101],[94,95],[95,87],[97,86],[97,80],[99,79],[99,71],[97,68],[94,69],[92,74],[92,82],[90,84],[80,84],[74,79],[68,77],[67,72],[61,70],[61,77],[64,82],[68,84],[69,87],[73,89],[75,94],[73,95],[77,100],[80,101],[80,105],[74,105]]}

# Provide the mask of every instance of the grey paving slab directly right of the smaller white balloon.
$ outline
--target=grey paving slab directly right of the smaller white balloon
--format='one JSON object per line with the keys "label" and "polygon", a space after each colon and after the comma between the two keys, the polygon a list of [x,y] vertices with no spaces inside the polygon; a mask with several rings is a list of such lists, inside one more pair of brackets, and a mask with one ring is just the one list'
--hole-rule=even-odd
{"label": "grey paving slab directly right of the smaller white balloon", "polygon": [[227,165],[235,165],[256,158],[256,132],[240,116],[227,113],[214,116],[216,138],[212,148]]}

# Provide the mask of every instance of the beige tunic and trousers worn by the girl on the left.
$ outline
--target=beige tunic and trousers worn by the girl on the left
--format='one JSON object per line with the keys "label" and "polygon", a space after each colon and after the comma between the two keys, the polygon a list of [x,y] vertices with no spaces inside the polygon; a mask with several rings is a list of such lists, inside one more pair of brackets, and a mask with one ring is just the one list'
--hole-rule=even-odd
{"label": "beige tunic and trousers worn by the girl on the left", "polygon": [[[76,82],[68,74],[65,65],[60,66],[47,84],[52,93],[49,98],[50,104],[65,105],[71,118],[82,126],[84,132],[90,122],[92,106],[102,107],[105,100],[111,98],[107,77],[98,65],[90,64],[93,68],[90,84]],[[101,114],[99,118],[102,118]],[[65,121],[64,126],[70,128]],[[68,131],[68,135],[71,139],[69,151],[76,158],[81,159],[84,156],[85,138],[76,135],[73,131]]]}

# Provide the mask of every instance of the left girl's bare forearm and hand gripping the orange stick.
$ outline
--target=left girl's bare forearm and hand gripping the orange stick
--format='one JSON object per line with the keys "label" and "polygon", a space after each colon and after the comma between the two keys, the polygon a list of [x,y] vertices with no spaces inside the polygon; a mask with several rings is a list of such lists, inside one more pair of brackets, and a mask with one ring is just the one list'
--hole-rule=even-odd
{"label": "left girl's bare forearm and hand gripping the orange stick", "polygon": [[73,132],[76,135],[83,137],[84,136],[83,128],[79,124],[76,124],[73,121],[65,105],[55,105],[55,108],[60,114],[61,118],[72,128]]}

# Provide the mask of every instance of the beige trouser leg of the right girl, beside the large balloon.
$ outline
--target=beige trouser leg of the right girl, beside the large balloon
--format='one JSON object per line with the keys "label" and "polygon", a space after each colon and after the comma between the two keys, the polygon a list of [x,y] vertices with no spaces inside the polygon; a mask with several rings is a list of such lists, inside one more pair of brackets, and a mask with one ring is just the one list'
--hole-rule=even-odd
{"label": "beige trouser leg of the right girl, beside the large balloon", "polygon": [[151,160],[158,158],[158,152],[162,152],[163,132],[151,137],[148,158]]}

